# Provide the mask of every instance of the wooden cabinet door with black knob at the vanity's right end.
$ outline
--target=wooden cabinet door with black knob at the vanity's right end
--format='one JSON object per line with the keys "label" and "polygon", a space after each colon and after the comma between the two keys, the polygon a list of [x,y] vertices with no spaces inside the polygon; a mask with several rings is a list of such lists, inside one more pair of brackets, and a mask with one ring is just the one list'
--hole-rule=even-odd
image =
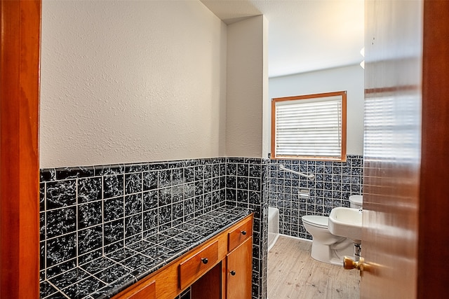
{"label": "wooden cabinet door with black knob at the vanity's right end", "polygon": [[227,299],[251,299],[253,237],[227,255]]}

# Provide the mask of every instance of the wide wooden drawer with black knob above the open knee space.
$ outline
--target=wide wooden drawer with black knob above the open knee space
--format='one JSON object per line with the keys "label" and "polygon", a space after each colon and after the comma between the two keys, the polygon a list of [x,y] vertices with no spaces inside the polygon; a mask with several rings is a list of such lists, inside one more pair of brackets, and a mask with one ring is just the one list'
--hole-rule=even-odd
{"label": "wide wooden drawer with black knob above the open knee space", "polygon": [[196,281],[218,261],[218,240],[202,249],[194,256],[180,263],[180,288],[183,289]]}

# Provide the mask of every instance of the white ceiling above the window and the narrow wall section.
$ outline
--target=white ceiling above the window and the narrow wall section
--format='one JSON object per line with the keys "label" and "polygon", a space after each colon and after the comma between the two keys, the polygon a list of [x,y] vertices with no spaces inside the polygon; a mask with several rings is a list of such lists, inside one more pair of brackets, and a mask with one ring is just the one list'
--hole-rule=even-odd
{"label": "white ceiling above the window and the narrow wall section", "polygon": [[363,0],[201,0],[226,24],[268,20],[269,77],[359,64]]}

